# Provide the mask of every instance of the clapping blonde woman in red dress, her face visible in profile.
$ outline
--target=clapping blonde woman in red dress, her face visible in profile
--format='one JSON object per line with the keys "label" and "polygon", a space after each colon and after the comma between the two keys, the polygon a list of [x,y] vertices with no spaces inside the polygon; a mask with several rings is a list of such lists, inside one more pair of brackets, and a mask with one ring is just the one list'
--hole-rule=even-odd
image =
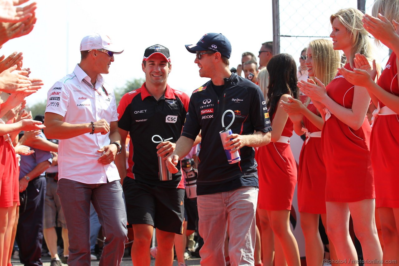
{"label": "clapping blonde woman in red dress, her face visible in profile", "polygon": [[[331,15],[334,50],[346,56],[346,69],[352,69],[356,53],[371,58],[371,43],[361,22],[363,14],[354,8]],[[375,193],[369,152],[371,127],[366,117],[370,97],[365,88],[353,85],[338,73],[327,87],[301,81],[324,118],[322,150],[326,166],[327,232],[337,257],[357,264],[357,254],[349,235],[349,217],[363,249],[364,260],[382,260],[375,226]],[[317,84],[316,84],[317,83]]]}

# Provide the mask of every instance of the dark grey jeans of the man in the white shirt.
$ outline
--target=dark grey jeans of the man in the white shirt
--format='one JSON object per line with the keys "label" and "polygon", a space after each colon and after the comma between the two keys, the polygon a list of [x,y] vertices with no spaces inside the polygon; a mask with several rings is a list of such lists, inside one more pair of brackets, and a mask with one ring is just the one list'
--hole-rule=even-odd
{"label": "dark grey jeans of the man in the white shirt", "polygon": [[119,266],[127,241],[126,208],[119,180],[105,184],[84,184],[69,179],[58,181],[68,228],[70,266],[90,266],[90,202],[99,216],[105,236],[99,265]]}

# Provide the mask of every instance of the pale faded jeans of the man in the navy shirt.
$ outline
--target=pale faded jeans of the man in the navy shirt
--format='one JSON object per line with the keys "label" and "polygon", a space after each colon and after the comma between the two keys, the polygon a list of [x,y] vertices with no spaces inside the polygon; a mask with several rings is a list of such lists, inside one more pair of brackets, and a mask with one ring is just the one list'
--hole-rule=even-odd
{"label": "pale faded jeans of the man in the navy shirt", "polygon": [[199,250],[201,266],[225,265],[223,253],[227,223],[230,264],[254,265],[258,191],[255,187],[240,187],[233,191],[197,197],[198,230],[204,240]]}

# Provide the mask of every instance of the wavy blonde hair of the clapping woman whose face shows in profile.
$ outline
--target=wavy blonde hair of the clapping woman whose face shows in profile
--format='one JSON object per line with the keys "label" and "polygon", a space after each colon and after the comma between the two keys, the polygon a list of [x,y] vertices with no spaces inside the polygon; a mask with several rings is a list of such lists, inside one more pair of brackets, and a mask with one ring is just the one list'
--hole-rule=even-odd
{"label": "wavy blonde hair of the clapping woman whose face shows in profile", "polygon": [[337,13],[330,16],[331,24],[337,19],[346,30],[348,30],[348,33],[352,37],[351,55],[350,58],[346,58],[346,62],[348,62],[349,59],[349,64],[352,68],[356,53],[363,54],[369,61],[371,61],[373,57],[370,37],[367,30],[363,28],[363,22],[361,22],[362,17],[363,13],[356,8],[340,9]]}

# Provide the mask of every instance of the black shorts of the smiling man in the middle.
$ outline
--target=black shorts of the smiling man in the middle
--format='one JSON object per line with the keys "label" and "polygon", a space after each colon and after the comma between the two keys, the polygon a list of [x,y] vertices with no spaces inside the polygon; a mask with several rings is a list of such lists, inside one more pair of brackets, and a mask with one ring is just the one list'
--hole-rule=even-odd
{"label": "black shorts of the smiling man in the middle", "polygon": [[150,224],[183,234],[184,189],[157,187],[130,177],[123,180],[128,224]]}

